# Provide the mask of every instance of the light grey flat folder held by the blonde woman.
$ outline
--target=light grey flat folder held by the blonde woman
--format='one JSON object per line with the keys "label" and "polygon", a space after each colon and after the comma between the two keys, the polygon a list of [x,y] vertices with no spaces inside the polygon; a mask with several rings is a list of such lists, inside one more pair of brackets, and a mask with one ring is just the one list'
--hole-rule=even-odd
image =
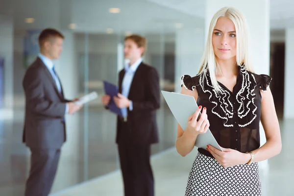
{"label": "light grey flat folder held by the blonde woman", "polygon": [[[195,98],[192,96],[167,91],[161,91],[161,93],[170,107],[172,115],[176,119],[177,123],[179,123],[179,125],[185,131],[188,125],[189,116],[195,113],[198,108]],[[195,142],[196,147],[200,147],[205,150],[207,145],[211,145],[221,150],[221,147],[209,129],[206,131],[206,133],[199,134]]]}

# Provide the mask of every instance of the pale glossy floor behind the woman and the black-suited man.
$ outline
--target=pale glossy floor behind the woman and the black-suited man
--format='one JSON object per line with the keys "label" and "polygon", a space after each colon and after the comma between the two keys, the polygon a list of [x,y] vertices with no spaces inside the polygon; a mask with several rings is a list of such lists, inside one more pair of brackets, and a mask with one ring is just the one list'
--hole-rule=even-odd
{"label": "pale glossy floor behind the woman and the black-suited man", "polygon": [[[263,196],[293,196],[294,120],[280,122],[282,152],[269,159],[269,170],[261,170]],[[185,187],[197,150],[181,157],[174,147],[152,157],[155,196],[184,196]],[[52,196],[123,196],[120,171],[74,186]]]}

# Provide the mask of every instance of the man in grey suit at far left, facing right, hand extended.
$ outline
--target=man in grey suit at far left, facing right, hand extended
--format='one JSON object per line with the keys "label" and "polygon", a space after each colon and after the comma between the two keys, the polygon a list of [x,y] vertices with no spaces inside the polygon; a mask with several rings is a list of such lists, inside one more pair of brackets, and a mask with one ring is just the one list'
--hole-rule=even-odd
{"label": "man in grey suit at far left, facing right, hand extended", "polygon": [[23,142],[31,151],[25,196],[48,196],[58,166],[60,148],[66,141],[65,114],[81,106],[64,98],[53,61],[58,59],[64,36],[55,29],[39,35],[40,54],[26,70]]}

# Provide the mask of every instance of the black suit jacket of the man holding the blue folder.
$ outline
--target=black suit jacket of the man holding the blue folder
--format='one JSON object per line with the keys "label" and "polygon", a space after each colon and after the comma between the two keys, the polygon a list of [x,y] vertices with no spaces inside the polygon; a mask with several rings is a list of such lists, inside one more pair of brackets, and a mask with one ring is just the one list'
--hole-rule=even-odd
{"label": "black suit jacket of the man holding the blue folder", "polygon": [[[124,69],[119,73],[119,91],[122,93]],[[122,129],[122,120],[117,120],[116,142],[121,132],[127,134],[134,144],[158,143],[156,109],[160,107],[159,77],[155,68],[139,65],[134,74],[128,99],[133,102],[133,110],[127,112],[127,132]]]}

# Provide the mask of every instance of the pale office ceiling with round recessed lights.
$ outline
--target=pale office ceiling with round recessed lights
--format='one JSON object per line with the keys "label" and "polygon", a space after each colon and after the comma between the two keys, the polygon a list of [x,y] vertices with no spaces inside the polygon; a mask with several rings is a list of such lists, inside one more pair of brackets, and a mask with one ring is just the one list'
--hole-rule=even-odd
{"label": "pale office ceiling with round recessed lights", "polygon": [[[16,31],[48,26],[92,33],[170,33],[204,26],[205,0],[0,0],[0,20],[13,15]],[[121,9],[118,14],[109,8]],[[270,27],[294,27],[294,0],[270,0]],[[6,16],[7,17],[7,16]],[[32,24],[25,18],[34,18]]]}

